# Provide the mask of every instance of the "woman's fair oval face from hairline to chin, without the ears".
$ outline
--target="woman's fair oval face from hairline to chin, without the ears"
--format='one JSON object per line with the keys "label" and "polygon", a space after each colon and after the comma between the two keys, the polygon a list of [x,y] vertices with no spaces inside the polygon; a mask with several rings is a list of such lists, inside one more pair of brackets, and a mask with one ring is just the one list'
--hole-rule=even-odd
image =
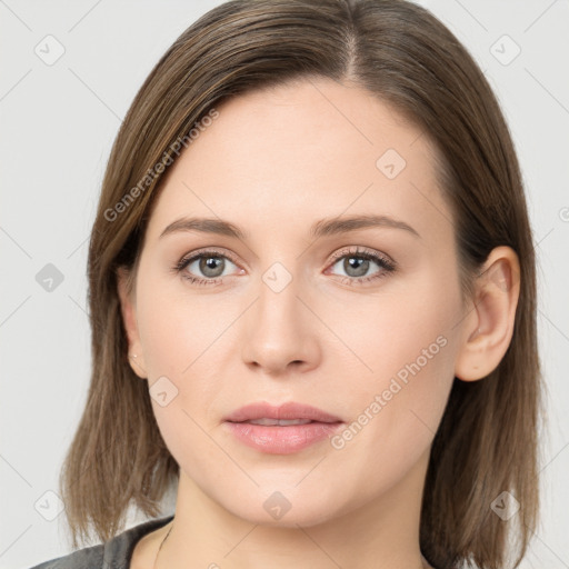
{"label": "woman's fair oval face from hairline to chin, without the ears", "polygon": [[[131,351],[183,479],[243,519],[309,526],[426,466],[459,350],[451,213],[429,141],[365,90],[301,81],[217,110],[152,211]],[[242,234],[162,234],[180,218]],[[340,422],[226,421],[290,401]]]}

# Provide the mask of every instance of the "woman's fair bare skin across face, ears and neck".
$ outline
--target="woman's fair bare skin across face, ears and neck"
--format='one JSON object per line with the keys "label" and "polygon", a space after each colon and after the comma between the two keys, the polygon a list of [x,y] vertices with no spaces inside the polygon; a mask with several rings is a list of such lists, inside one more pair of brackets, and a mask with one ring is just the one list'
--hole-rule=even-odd
{"label": "woman's fair bare skin across face, ears and neck", "polygon": [[[151,399],[180,465],[173,526],[142,539],[132,567],[154,567],[170,529],[156,567],[429,567],[419,519],[430,447],[453,378],[483,378],[510,343],[516,253],[495,249],[462,306],[435,149],[361,88],[302,80],[218,111],[169,167],[130,293],[119,272],[132,369],[150,387],[166,376],[178,389],[166,407]],[[395,179],[376,166],[390,148],[407,162]],[[316,241],[308,233],[319,219],[357,213],[391,216],[420,238],[386,227]],[[249,238],[160,239],[182,216],[229,220]],[[347,283],[362,277],[331,254],[353,246],[398,269],[370,261],[365,274],[381,278]],[[171,270],[210,247],[237,260],[226,259],[220,284]],[[277,261],[292,277],[280,292],[262,280]],[[207,278],[198,261],[183,270]],[[325,439],[268,455],[223,428],[227,413],[259,400],[305,402],[351,423],[441,335],[446,346],[341,449]],[[291,505],[279,520],[263,508],[274,491]]]}

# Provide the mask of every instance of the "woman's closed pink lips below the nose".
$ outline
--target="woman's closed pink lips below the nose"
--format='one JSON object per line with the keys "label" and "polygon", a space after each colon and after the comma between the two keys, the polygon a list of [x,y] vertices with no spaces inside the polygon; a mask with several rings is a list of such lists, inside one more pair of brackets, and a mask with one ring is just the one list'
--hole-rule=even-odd
{"label": "woman's closed pink lips below the nose", "polygon": [[269,455],[290,455],[332,437],[343,421],[316,407],[267,402],[237,409],[224,419],[224,428],[237,440]]}

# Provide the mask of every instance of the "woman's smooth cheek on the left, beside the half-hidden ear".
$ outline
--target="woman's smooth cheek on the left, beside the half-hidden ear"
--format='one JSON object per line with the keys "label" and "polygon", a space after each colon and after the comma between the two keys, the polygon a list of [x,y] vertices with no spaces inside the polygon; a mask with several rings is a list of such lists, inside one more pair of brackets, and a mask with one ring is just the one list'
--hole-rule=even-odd
{"label": "woman's smooth cheek on the left, beside the half-hidden ear", "polygon": [[166,392],[151,399],[162,438],[177,458],[193,448],[203,455],[211,445],[200,426],[210,429],[209,413],[219,408],[220,362],[227,357],[228,338],[223,331],[238,316],[236,303],[216,301],[212,311],[210,296],[191,295],[179,283],[148,276],[140,281],[138,325],[150,395]]}

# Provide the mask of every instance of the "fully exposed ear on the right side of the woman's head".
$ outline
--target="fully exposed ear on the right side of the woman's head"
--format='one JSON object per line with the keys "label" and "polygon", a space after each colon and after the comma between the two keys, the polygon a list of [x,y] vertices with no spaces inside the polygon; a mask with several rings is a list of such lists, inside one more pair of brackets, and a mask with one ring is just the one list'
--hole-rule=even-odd
{"label": "fully exposed ear on the right side of the woman's head", "polygon": [[473,307],[461,322],[455,376],[476,381],[500,363],[511,341],[520,292],[520,266],[510,247],[495,248],[476,282]]}

